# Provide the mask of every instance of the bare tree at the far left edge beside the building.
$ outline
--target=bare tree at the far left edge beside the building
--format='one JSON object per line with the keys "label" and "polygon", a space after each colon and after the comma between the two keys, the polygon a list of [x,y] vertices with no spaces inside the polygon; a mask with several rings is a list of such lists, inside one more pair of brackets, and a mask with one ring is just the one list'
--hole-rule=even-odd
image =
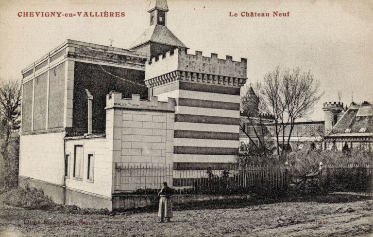
{"label": "bare tree at the far left edge beside the building", "polygon": [[8,144],[12,129],[19,128],[21,87],[17,80],[0,82],[0,116],[4,130],[4,143]]}

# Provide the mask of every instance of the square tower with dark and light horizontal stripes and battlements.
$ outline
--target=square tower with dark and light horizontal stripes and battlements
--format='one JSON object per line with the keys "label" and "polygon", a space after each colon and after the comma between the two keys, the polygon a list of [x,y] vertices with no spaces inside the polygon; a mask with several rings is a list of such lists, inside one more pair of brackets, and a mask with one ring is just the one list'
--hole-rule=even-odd
{"label": "square tower with dark and light horizontal stripes and battlements", "polygon": [[[165,73],[165,69],[171,71]],[[147,62],[145,72],[145,83],[158,100],[176,100],[174,164],[234,162],[239,147],[240,87],[246,82],[246,60],[236,62],[230,56],[223,60],[215,54],[209,58],[201,52],[187,55],[175,50],[173,55],[168,53],[159,61]]]}

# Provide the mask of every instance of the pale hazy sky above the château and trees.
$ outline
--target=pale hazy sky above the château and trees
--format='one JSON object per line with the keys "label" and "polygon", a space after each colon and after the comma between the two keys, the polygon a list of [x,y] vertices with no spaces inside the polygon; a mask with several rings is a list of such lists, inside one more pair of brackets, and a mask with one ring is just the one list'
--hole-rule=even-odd
{"label": "pale hazy sky above the ch\u00e2teau and trees", "polygon": [[[0,78],[21,71],[66,39],[128,49],[149,26],[146,0],[0,0]],[[168,28],[190,48],[247,58],[248,83],[275,67],[308,71],[324,94],[309,120],[323,120],[322,103],[373,101],[373,2],[370,0],[168,0]],[[124,12],[125,17],[18,17],[21,12]],[[273,17],[273,11],[288,17]],[[230,12],[232,14],[230,14]],[[241,12],[270,17],[241,17]],[[237,17],[230,17],[237,13]]]}

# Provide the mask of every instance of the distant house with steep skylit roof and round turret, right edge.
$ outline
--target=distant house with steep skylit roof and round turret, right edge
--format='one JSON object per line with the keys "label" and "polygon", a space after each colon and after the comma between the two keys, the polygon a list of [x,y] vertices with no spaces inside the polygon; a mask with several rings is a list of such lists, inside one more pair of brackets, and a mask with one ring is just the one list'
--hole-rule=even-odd
{"label": "distant house with steep skylit roof and round turret, right edge", "polygon": [[[343,107],[343,105],[342,105]],[[343,113],[336,103],[324,103],[324,110],[333,109],[333,116],[328,117],[330,131],[324,137],[323,149],[342,150],[343,146],[364,150],[373,150],[373,105],[364,102],[352,103]],[[325,124],[326,121],[325,115]],[[336,121],[333,125],[332,122]]]}

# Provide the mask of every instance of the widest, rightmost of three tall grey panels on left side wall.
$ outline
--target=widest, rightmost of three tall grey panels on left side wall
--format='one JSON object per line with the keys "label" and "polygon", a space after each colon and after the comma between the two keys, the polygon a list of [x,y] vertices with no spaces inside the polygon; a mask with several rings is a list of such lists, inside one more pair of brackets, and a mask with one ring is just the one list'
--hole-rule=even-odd
{"label": "widest, rightmost of three tall grey panels on left side wall", "polygon": [[64,126],[64,101],[65,63],[61,63],[50,71],[48,128],[62,128]]}

